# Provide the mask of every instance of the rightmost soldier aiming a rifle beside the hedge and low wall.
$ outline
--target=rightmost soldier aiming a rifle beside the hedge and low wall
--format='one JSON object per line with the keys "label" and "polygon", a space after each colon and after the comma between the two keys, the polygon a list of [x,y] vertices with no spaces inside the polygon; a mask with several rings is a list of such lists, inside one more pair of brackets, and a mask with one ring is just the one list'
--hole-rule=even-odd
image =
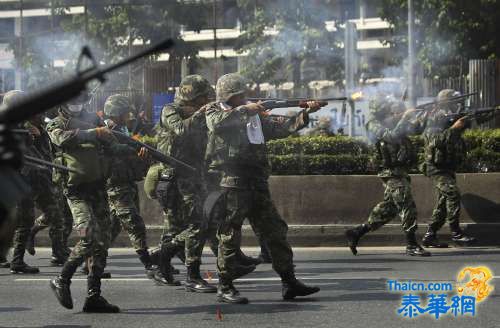
{"label": "rightmost soldier aiming a rifle beside the hedge and low wall", "polygon": [[[439,92],[437,101],[446,101],[460,93],[445,89]],[[424,131],[425,159],[423,173],[430,177],[437,191],[437,203],[422,244],[425,247],[446,248],[448,245],[437,238],[437,232],[448,221],[451,239],[459,245],[470,245],[475,238],[469,237],[460,229],[460,190],[455,172],[465,157],[465,142],[462,133],[466,128],[465,118],[457,120],[452,126],[445,123],[445,115],[455,113],[458,102],[438,104],[427,118]]]}

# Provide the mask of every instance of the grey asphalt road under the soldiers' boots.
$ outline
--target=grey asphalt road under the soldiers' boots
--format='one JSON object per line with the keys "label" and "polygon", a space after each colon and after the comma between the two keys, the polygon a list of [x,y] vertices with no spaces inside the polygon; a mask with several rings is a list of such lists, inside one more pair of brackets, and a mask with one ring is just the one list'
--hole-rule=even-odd
{"label": "grey asphalt road under the soldiers' boots", "polygon": [[[256,255],[255,248],[245,251]],[[47,265],[48,249],[39,249],[26,259],[39,265],[41,274],[11,275],[0,269],[0,327],[500,327],[500,287],[477,304],[475,316],[448,313],[435,319],[423,313],[409,319],[397,313],[402,295],[387,286],[389,279],[455,282],[464,266],[480,265],[498,275],[494,286],[500,278],[500,249],[448,249],[429,258],[407,257],[402,251],[360,248],[354,257],[343,248],[297,248],[297,276],[320,286],[320,293],[282,301],[280,281],[264,264],[236,284],[251,303],[228,305],[217,303],[214,294],[155,286],[131,249],[112,249],[108,269],[113,278],[103,283],[103,295],[122,312],[86,314],[81,312],[85,277],[76,275],[71,285],[75,309],[62,308],[48,285],[60,269]],[[216,283],[214,260],[207,253],[202,271]]]}

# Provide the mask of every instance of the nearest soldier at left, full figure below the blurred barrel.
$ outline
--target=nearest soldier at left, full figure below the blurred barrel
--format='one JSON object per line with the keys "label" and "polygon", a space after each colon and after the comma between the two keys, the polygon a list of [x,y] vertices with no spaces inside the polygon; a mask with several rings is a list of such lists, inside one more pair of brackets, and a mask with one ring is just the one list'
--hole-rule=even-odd
{"label": "nearest soldier at left, full figure below the blurred barrel", "polygon": [[[89,129],[89,126],[94,128]],[[95,114],[83,111],[83,102],[63,105],[59,115],[48,124],[47,132],[58,149],[56,160],[79,172],[70,172],[65,177],[64,194],[80,240],[64,263],[61,274],[50,281],[50,286],[59,303],[72,309],[71,278],[78,266],[90,259],[88,296],[83,311],[119,312],[116,305],[101,296],[101,275],[106,266],[110,238],[103,154],[111,151],[109,148],[116,144],[116,139],[108,128],[98,126]]]}

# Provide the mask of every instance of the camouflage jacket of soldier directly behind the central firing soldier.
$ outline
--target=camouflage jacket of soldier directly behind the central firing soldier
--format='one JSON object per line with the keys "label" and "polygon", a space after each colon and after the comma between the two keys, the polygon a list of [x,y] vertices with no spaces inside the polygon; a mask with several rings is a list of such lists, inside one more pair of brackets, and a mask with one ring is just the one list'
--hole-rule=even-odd
{"label": "camouflage jacket of soldier directly behind the central firing soldier", "polygon": [[[205,149],[207,144],[207,126],[205,115],[195,113],[186,116],[183,105],[174,102],[165,106],[161,113],[158,133],[158,150],[173,156],[198,170],[201,174],[206,169]],[[192,177],[193,173],[181,167],[165,169],[181,177]]]}

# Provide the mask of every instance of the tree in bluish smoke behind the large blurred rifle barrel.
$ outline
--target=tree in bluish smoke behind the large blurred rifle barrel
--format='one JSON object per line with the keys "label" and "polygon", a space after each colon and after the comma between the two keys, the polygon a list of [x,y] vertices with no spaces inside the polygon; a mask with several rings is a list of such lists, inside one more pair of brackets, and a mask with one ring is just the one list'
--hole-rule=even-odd
{"label": "tree in bluish smoke behind the large blurred rifle barrel", "polygon": [[[18,39],[11,42],[16,61],[25,72],[28,88],[36,88],[61,75],[61,70],[53,67],[54,59],[71,58],[65,71],[73,69],[83,45],[90,45],[98,61],[106,64],[129,55],[134,48],[129,41],[140,40],[146,44],[170,37],[176,42],[175,48],[169,52],[172,61],[181,58],[196,61],[197,48],[180,38],[180,30],[181,24],[193,30],[199,30],[205,24],[200,16],[192,15],[196,10],[208,11],[205,2],[151,0],[125,4],[121,1],[87,3],[87,15],[68,15],[65,9],[69,5],[83,5],[84,1],[45,1],[42,6],[52,6],[54,10],[50,18],[53,19],[52,28],[43,33],[25,35],[22,47]],[[112,86],[127,87],[129,75],[136,76],[133,71],[132,68],[114,73],[123,75],[123,78],[113,79]]]}

